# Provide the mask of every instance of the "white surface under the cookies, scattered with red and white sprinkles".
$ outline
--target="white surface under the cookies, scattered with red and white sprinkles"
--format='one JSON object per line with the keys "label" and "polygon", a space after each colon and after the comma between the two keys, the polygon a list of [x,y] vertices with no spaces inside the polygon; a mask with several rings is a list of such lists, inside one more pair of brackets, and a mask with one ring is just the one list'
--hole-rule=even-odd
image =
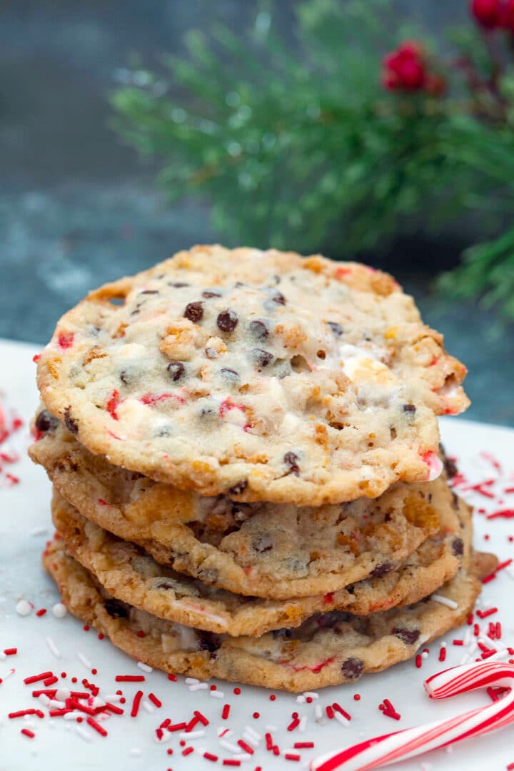
{"label": "white surface under the cookies, scattered with red and white sprinkles", "polygon": [[[32,355],[36,348],[18,343],[0,342],[0,389],[3,392],[2,401],[14,407],[25,419],[32,416],[38,403],[35,389],[35,366]],[[472,375],[471,375],[472,376]],[[494,384],[492,384],[494,389]],[[442,435],[448,452],[459,457],[459,462],[466,476],[472,480],[482,480],[485,476],[498,476],[489,461],[480,456],[487,450],[499,458],[506,472],[502,480],[496,483],[493,490],[507,487],[509,474],[512,479],[514,460],[514,431],[485,426],[479,423],[469,423],[465,420],[445,419],[442,421]],[[15,443],[27,446],[29,436],[22,429],[15,436]],[[2,447],[2,449],[5,449]],[[5,467],[4,471],[8,470]],[[1,487],[0,473],[0,651],[12,646],[18,647],[18,655],[12,655],[0,661],[0,771],[25,771],[25,769],[212,769],[222,768],[221,758],[230,757],[230,752],[220,748],[217,739],[217,728],[223,724],[220,718],[224,703],[230,703],[230,718],[225,722],[234,730],[230,741],[240,738],[244,726],[250,725],[260,734],[264,734],[265,726],[277,726],[273,732],[274,739],[285,749],[293,746],[295,741],[314,741],[314,750],[301,752],[301,763],[292,763],[283,757],[275,757],[264,750],[263,744],[256,750],[251,761],[241,765],[242,769],[294,769],[307,768],[308,761],[323,752],[340,746],[350,746],[360,739],[375,734],[407,728],[433,719],[442,719],[455,715],[475,705],[489,703],[485,693],[477,693],[448,702],[429,702],[424,695],[422,682],[429,675],[438,672],[442,665],[438,663],[438,642],[430,646],[430,654],[423,662],[422,669],[416,669],[413,661],[405,662],[379,675],[363,678],[356,685],[346,685],[338,688],[324,689],[320,692],[317,703],[323,707],[334,701],[339,702],[351,713],[352,720],[348,728],[344,728],[335,720],[319,726],[314,722],[313,705],[298,705],[293,695],[277,692],[277,698],[270,702],[270,692],[264,689],[244,686],[241,695],[233,695],[233,685],[218,682],[217,687],[224,692],[224,699],[213,699],[209,692],[190,692],[183,678],[178,682],[169,682],[166,675],[153,672],[146,675],[146,682],[141,686],[145,695],[154,692],[163,701],[162,709],[156,709],[153,714],[140,710],[139,716],[133,719],[129,709],[123,717],[113,716],[103,724],[109,731],[109,736],[103,738],[88,729],[91,740],[86,742],[76,732],[76,724],[63,719],[44,719],[37,717],[29,719],[35,726],[35,739],[22,736],[20,729],[25,725],[25,719],[8,719],[8,712],[29,707],[38,707],[32,699],[32,687],[23,684],[23,678],[47,669],[60,673],[66,671],[68,678],[76,675],[80,680],[88,677],[101,688],[101,695],[114,693],[119,687],[114,682],[116,674],[142,674],[128,656],[113,648],[109,641],[99,641],[94,631],[85,632],[82,625],[69,615],[63,619],[54,618],[51,608],[59,600],[54,584],[42,571],[39,554],[45,540],[51,536],[52,527],[49,523],[50,486],[45,474],[36,468],[25,457],[19,463],[10,467],[12,473],[20,477],[20,483],[14,487]],[[514,487],[512,479],[511,487]],[[470,497],[471,496],[471,497]],[[473,497],[474,496],[474,497]],[[478,506],[492,510],[495,502],[476,493],[467,493],[467,497]],[[514,495],[505,497],[506,505],[514,505]],[[475,544],[479,547],[496,551],[500,559],[514,556],[514,544],[509,542],[510,534],[514,535],[514,520],[490,520],[486,522],[483,515],[475,517]],[[35,528],[43,528],[45,533],[32,534]],[[490,534],[488,541],[485,533]],[[487,584],[482,594],[482,605],[489,607],[494,604],[499,607],[499,614],[492,620],[502,621],[503,640],[506,644],[514,644],[514,603],[512,591],[514,582],[509,571],[502,571],[495,581]],[[20,598],[26,598],[35,604],[36,608],[48,608],[48,612],[38,618],[32,613],[22,618],[15,611],[15,605]],[[485,623],[485,622],[484,622]],[[449,665],[459,664],[465,652],[463,648],[452,645],[454,638],[462,638],[465,630],[446,635],[448,641]],[[50,637],[61,652],[57,660],[49,651],[45,638]],[[79,661],[78,653],[85,655],[92,665],[98,668],[98,675],[93,676]],[[5,677],[10,668],[15,668],[15,674]],[[130,707],[133,695],[139,685],[122,685]],[[355,692],[361,694],[361,700],[353,699]],[[378,709],[382,699],[393,702],[401,721],[386,718]],[[154,740],[154,729],[169,716],[173,722],[186,720],[192,715],[193,709],[200,709],[210,719],[206,736],[191,743],[195,748],[201,748],[220,756],[217,763],[203,759],[199,753],[189,756],[180,755],[179,739],[173,734],[173,739],[163,745]],[[46,712],[46,710],[44,710]],[[291,712],[308,715],[307,729],[304,734],[297,730],[287,732],[286,726],[291,720]],[[253,713],[260,712],[260,718],[254,719]],[[85,724],[82,723],[82,727]],[[173,748],[173,755],[166,755],[166,749]],[[136,751],[136,752],[135,752]],[[138,754],[139,753],[139,754]],[[508,763],[514,762],[514,742],[512,729],[472,739],[469,742],[455,746],[452,753],[438,751],[430,756],[424,756],[410,763],[398,764],[398,769],[455,769],[462,767],[472,769],[503,769]],[[227,766],[225,766],[227,767]]]}

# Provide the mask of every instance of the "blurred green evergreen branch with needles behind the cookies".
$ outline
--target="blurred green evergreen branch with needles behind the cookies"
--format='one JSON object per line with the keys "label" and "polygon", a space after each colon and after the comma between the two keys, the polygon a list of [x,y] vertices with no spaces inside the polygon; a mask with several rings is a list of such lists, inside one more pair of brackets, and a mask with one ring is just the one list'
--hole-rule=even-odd
{"label": "blurred green evergreen branch with needles behind the cookies", "polygon": [[[330,244],[341,257],[467,210],[497,234],[514,202],[514,79],[489,33],[454,31],[448,62],[388,0],[295,8],[292,42],[263,6],[244,37],[221,24],[190,32],[189,56],[166,57],[166,76],[134,70],[113,93],[116,129],[160,159],[170,200],[207,201],[232,244]],[[398,87],[388,70],[388,90],[381,52],[412,37],[423,85]],[[514,317],[514,227],[469,248],[442,286]]]}

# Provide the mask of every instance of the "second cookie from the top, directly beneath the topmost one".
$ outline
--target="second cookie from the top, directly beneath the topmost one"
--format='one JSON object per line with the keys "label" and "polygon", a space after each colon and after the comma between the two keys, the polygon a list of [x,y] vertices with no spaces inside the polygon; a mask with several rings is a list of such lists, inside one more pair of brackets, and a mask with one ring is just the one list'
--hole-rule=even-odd
{"label": "second cookie from the top, directly beneath the topmost one", "polygon": [[316,508],[201,497],[111,466],[67,436],[58,427],[30,451],[62,497],[161,564],[237,594],[289,599],[336,591],[396,567],[438,532],[440,512],[452,513],[442,477]]}

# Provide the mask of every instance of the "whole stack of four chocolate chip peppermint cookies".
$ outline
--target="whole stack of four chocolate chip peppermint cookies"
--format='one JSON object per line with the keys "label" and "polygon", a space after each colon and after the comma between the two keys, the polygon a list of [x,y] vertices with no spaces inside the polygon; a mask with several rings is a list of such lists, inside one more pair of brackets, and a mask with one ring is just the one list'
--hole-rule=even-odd
{"label": "whole stack of four chocolate chip peppermint cookies", "polygon": [[167,672],[297,692],[405,660],[493,566],[438,448],[464,375],[363,265],[194,247],[106,284],[39,359],[43,564]]}

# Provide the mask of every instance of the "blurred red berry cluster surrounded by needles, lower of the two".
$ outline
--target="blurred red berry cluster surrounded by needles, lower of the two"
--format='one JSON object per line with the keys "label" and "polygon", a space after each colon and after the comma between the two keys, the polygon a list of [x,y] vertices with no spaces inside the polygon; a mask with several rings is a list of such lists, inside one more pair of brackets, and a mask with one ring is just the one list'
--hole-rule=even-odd
{"label": "blurred red berry cluster surrounded by needles, lower of the two", "polygon": [[386,89],[425,91],[440,96],[445,91],[445,79],[431,72],[425,51],[417,42],[406,41],[388,53],[382,61],[382,83]]}

